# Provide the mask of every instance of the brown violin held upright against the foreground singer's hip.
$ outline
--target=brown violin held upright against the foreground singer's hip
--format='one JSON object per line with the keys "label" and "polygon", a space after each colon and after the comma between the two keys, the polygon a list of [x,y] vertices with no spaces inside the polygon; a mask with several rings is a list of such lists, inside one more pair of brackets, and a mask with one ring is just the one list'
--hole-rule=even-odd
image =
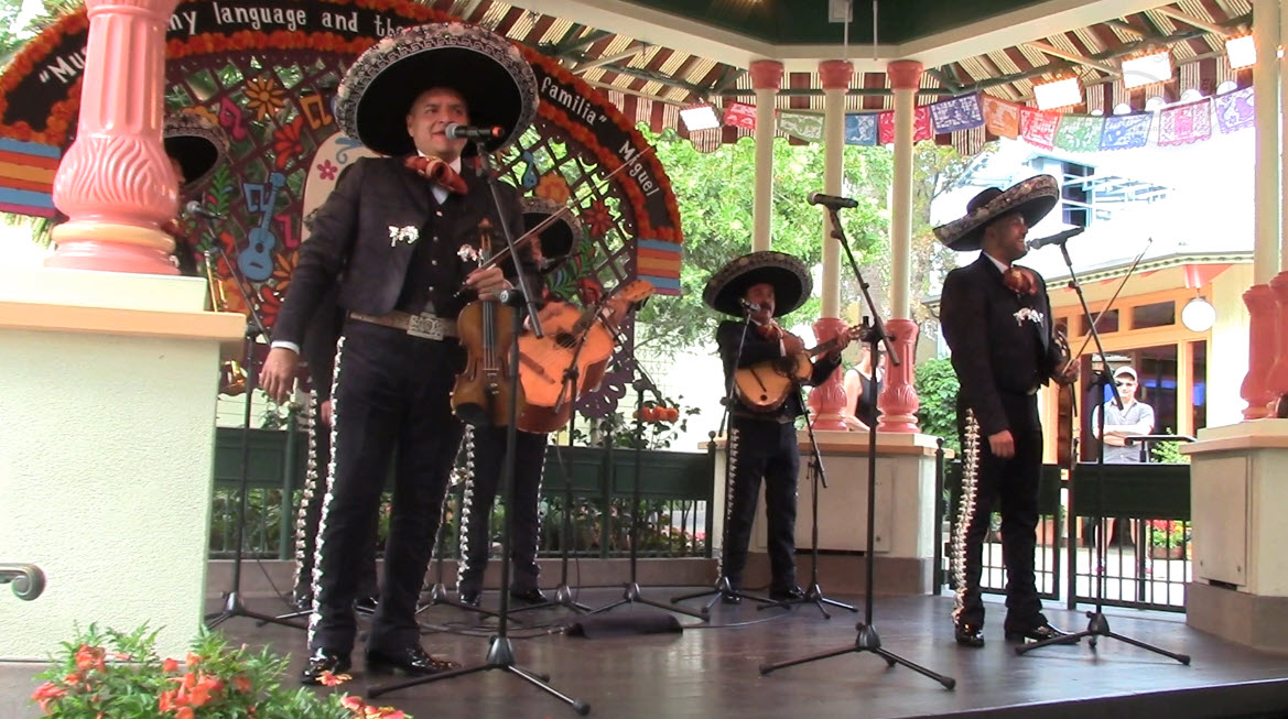
{"label": "brown violin held upright against the foreground singer's hip", "polygon": [[[483,262],[492,256],[492,224],[487,219],[479,223],[479,256]],[[505,427],[510,423],[507,378],[516,311],[493,297],[465,305],[456,318],[466,360],[452,388],[452,412],[466,424]],[[524,406],[520,387],[518,412],[523,413]]]}

